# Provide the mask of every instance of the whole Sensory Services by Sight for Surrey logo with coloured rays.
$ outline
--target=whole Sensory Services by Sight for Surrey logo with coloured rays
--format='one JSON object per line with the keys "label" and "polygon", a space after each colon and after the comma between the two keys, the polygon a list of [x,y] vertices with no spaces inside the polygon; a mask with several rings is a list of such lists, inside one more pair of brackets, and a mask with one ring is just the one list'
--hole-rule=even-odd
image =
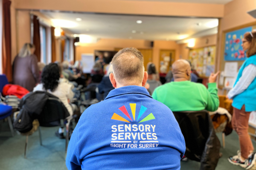
{"label": "whole Sensory Services by Sight for Surrey logo with coloured rays", "polygon": [[[130,108],[133,119],[128,113],[125,105],[119,108],[122,116],[113,113],[111,119],[126,122],[125,124],[116,124],[111,126],[112,138],[111,147],[118,148],[150,148],[157,147],[157,133],[155,132],[156,125],[153,125],[151,121],[155,119],[153,113],[148,114],[143,118],[144,113],[148,113],[145,106],[141,105],[138,116],[136,115],[136,103],[130,103]],[[137,119],[136,119],[137,116]],[[149,121],[147,125],[141,124],[142,122]],[[118,123],[118,122],[116,122]],[[154,122],[153,122],[154,123]]]}

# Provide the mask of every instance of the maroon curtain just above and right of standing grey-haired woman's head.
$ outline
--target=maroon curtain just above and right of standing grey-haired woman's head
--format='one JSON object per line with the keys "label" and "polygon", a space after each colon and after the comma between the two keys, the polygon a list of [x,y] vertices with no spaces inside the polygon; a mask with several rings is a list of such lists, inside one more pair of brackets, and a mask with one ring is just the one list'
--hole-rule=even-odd
{"label": "maroon curtain just above and right of standing grey-haired woman's head", "polygon": [[33,16],[33,44],[35,45],[35,55],[38,58],[38,62],[41,61],[41,41],[40,41],[40,28],[39,20],[37,16]]}

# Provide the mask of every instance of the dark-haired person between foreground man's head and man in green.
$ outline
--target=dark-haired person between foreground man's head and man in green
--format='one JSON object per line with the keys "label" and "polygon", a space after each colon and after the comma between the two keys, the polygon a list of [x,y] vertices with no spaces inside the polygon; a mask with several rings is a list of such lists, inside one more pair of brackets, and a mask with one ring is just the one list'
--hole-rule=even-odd
{"label": "dark-haired person between foreground man's head and man in green", "polygon": [[162,85],[162,83],[158,80],[157,70],[155,65],[152,62],[148,63],[148,80],[147,83],[149,84],[149,91],[151,93],[154,92],[155,88]]}

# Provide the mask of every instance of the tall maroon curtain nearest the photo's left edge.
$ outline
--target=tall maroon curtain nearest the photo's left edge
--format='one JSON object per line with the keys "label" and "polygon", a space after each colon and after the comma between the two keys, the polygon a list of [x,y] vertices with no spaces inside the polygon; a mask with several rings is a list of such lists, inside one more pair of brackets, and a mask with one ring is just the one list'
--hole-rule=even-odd
{"label": "tall maroon curtain nearest the photo's left edge", "polygon": [[6,74],[9,82],[12,82],[12,53],[11,53],[11,6],[10,0],[3,0],[3,74]]}

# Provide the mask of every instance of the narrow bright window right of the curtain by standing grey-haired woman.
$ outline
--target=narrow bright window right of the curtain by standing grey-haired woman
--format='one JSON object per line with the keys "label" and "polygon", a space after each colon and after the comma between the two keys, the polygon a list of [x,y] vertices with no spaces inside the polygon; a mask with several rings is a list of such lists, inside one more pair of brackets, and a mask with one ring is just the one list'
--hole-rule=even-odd
{"label": "narrow bright window right of the curtain by standing grey-haired woman", "polygon": [[47,64],[47,34],[46,27],[40,26],[40,41],[41,41],[41,62]]}

